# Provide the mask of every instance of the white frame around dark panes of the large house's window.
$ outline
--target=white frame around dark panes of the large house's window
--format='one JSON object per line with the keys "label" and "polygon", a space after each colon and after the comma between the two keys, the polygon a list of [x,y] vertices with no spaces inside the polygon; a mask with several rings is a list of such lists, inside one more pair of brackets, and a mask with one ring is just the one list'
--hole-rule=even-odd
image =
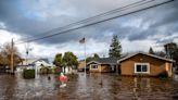
{"label": "white frame around dark panes of the large house's window", "polygon": [[[137,72],[137,65],[141,65],[141,72]],[[142,72],[143,65],[147,65],[147,72]],[[136,74],[150,74],[150,63],[135,63],[135,73]]]}

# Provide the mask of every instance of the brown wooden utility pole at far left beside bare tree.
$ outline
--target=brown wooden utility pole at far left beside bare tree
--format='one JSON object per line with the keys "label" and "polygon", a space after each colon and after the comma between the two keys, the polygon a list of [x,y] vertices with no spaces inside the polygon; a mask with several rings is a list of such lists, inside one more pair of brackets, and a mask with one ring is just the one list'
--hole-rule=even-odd
{"label": "brown wooden utility pole at far left beside bare tree", "polygon": [[14,74],[14,41],[13,41],[13,38],[12,38],[12,41],[11,41],[11,74]]}

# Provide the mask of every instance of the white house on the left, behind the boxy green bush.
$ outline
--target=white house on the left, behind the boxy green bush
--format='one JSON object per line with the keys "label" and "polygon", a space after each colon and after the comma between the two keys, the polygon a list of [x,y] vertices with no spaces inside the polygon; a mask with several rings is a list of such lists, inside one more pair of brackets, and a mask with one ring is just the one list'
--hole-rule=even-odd
{"label": "white house on the left, behind the boxy green bush", "polygon": [[40,73],[40,71],[44,67],[52,67],[52,64],[50,64],[48,59],[27,59],[17,65],[16,71],[22,71],[23,68],[34,68],[37,73]]}

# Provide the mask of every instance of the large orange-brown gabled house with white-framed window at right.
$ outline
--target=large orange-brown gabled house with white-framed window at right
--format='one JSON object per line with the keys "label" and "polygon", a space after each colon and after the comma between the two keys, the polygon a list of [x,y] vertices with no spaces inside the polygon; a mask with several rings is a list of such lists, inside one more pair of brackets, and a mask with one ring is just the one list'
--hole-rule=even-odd
{"label": "large orange-brown gabled house with white-framed window at right", "polygon": [[157,76],[167,72],[168,76],[173,75],[173,60],[161,58],[150,53],[138,52],[119,59],[122,75],[148,75]]}

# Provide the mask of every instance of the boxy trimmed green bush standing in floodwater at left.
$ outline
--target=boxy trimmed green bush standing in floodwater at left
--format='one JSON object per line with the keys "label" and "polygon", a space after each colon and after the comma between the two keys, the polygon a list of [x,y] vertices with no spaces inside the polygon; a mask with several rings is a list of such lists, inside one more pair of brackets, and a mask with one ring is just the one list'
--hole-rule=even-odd
{"label": "boxy trimmed green bush standing in floodwater at left", "polygon": [[35,70],[24,70],[23,77],[26,79],[35,78]]}

